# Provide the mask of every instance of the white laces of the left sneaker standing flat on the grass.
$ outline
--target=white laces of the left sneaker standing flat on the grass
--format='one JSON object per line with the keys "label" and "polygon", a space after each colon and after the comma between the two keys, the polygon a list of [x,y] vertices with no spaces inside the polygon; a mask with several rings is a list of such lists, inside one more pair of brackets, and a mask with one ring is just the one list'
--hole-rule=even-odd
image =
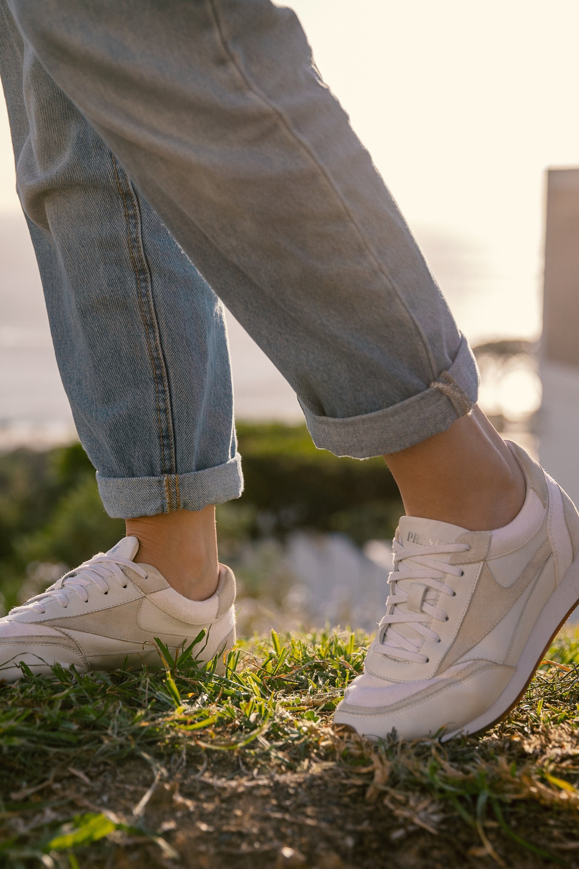
{"label": "white laces of the left sneaker standing flat on the grass", "polygon": [[36,613],[45,613],[45,605],[49,600],[55,599],[58,600],[61,607],[66,608],[69,606],[66,592],[76,592],[85,603],[88,603],[88,589],[96,587],[101,594],[108,594],[109,583],[107,580],[113,576],[122,588],[126,588],[127,577],[122,573],[121,566],[130,567],[142,579],[147,577],[147,572],[135,564],[135,561],[113,555],[98,554],[94,558],[90,558],[89,561],[84,561],[80,567],[69,570],[68,574],[64,574],[60,580],[56,580],[54,585],[49,586],[42,594],[36,594],[35,597],[27,600],[22,607],[11,609],[10,614],[21,613],[27,609],[33,609]]}

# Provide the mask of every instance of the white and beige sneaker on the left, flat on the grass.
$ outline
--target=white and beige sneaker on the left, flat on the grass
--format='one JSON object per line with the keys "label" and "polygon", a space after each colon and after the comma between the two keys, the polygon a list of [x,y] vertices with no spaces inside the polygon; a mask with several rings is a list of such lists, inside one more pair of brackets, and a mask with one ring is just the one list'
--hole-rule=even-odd
{"label": "white and beige sneaker on the left, flat on the grass", "polygon": [[[235,642],[235,578],[220,565],[217,591],[188,600],[155,567],[135,564],[136,537],[123,537],[0,619],[0,680],[74,664],[79,672],[159,667],[155,637],[170,650],[188,646],[204,628],[197,660],[211,660]],[[206,644],[207,643],[207,644]]]}

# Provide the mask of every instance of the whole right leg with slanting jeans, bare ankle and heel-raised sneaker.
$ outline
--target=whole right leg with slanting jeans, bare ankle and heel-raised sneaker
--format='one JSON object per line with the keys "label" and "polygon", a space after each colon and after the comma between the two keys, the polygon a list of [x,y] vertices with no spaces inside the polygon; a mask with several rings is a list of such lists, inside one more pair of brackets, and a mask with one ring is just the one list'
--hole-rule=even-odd
{"label": "whole right leg with slanting jeans, bare ankle and heel-raised sneaker", "polygon": [[[297,19],[267,0],[10,5],[49,73],[293,383],[316,443],[385,454],[420,510],[451,517],[449,492],[462,503],[467,527],[402,517],[386,614],[335,720],[381,737],[489,726],[579,599],[579,515],[513,447],[523,507],[504,527],[469,530],[516,510],[520,474],[478,415],[462,420],[477,395],[468,345],[320,83]],[[416,444],[418,475],[402,455]],[[450,473],[453,449],[462,474]],[[481,511],[462,496],[470,485]]]}

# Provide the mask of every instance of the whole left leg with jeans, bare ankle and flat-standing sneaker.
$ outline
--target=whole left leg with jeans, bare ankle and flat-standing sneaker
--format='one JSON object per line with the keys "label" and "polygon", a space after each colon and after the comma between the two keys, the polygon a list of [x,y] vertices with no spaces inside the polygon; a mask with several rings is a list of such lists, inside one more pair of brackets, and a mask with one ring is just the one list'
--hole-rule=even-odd
{"label": "whole left leg with jeans, bare ankle and flat-standing sneaker", "polygon": [[3,0],[0,69],[63,383],[109,514],[133,522],[0,620],[0,675],[158,666],[158,640],[211,660],[235,641],[213,505],[242,484],[222,306]]}

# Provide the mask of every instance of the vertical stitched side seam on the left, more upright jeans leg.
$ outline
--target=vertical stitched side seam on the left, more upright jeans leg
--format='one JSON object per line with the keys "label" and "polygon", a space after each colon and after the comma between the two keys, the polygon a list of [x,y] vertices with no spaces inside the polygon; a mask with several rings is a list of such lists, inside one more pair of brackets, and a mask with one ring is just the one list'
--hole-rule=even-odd
{"label": "vertical stitched side seam on the left, more upright jeans leg", "polygon": [[[153,299],[152,299],[152,287],[151,287],[151,281],[150,281],[150,272],[148,269],[147,258],[146,258],[144,249],[142,247],[141,237],[140,237],[139,231],[138,231],[138,228],[140,227],[140,224],[141,224],[141,210],[139,209],[139,204],[138,204],[138,201],[136,200],[135,192],[132,188],[131,182],[128,179],[128,176],[126,175],[126,173],[123,172],[123,175],[125,176],[125,179],[127,182],[129,196],[131,198],[131,202],[132,202],[132,206],[133,206],[133,211],[134,211],[134,215],[135,215],[135,222],[137,224],[136,237],[134,238],[131,236],[131,226],[130,226],[130,216],[129,216],[129,212],[128,212],[127,195],[122,189],[121,180],[119,178],[119,173],[118,173],[117,166],[116,166],[115,156],[111,155],[111,157],[112,157],[112,162],[113,162],[113,170],[115,172],[116,185],[117,185],[119,193],[122,197],[122,203],[123,203],[123,207],[125,210],[125,220],[127,223],[127,235],[128,235],[128,252],[129,252],[131,262],[133,264],[133,269],[135,270],[137,292],[138,292],[138,296],[139,296],[139,307],[141,308],[141,319],[142,319],[143,327],[145,329],[145,335],[147,337],[148,355],[149,355],[149,360],[151,362],[151,368],[153,371],[153,378],[155,381],[155,400],[156,400],[156,406],[157,406],[157,421],[158,421],[158,426],[159,426],[159,437],[161,440],[161,468],[162,468],[162,474],[165,478],[164,490],[165,490],[166,502],[167,502],[166,509],[167,509],[167,512],[170,512],[174,509],[179,509],[179,488],[178,488],[178,483],[176,482],[176,468],[175,468],[175,456],[174,456],[173,420],[172,420],[172,414],[171,414],[171,401],[170,401],[170,392],[169,392],[169,388],[168,388],[167,371],[166,371],[165,362],[164,362],[163,354],[162,354],[161,337],[159,335],[159,328],[158,328],[158,323],[157,323],[157,319],[156,319],[156,315],[155,315],[155,306],[154,306]],[[139,259],[140,259],[139,264],[137,264],[137,262],[135,260],[135,250],[134,250],[135,242],[136,242],[136,246],[138,247],[138,255],[139,255]],[[142,298],[141,282],[142,282],[143,275],[144,275],[146,283],[147,283],[148,315],[149,315],[150,321],[152,323],[153,331],[154,331],[156,359],[158,362],[158,367],[161,370],[162,384],[160,384],[160,382],[159,382],[159,373],[157,371],[157,364],[155,363],[155,353],[154,353],[154,348],[153,348],[152,341],[151,341],[150,328],[149,328],[149,325],[147,322],[147,316],[145,314],[144,303],[143,303],[143,298]],[[171,474],[167,474],[167,467],[166,467],[166,463],[165,463],[165,440],[163,438],[163,425],[161,422],[161,398],[160,398],[161,390],[163,393],[163,404],[164,404],[163,415],[165,416],[165,423],[166,423],[167,434],[168,434],[168,447],[169,447],[170,461],[171,461],[171,468],[170,468]],[[172,487],[171,487],[171,483],[170,483],[170,476],[175,477],[175,488],[176,488],[176,494],[177,494],[176,505],[174,505],[174,498],[173,498],[173,492],[172,492]]]}

